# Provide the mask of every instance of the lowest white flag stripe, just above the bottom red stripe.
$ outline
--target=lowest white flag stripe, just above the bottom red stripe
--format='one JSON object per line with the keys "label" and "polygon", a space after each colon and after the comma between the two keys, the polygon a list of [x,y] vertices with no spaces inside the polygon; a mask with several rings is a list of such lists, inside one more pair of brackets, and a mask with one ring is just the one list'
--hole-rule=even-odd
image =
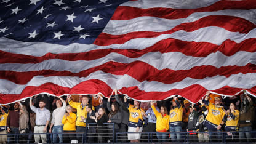
{"label": "lowest white flag stripe, just above the bottom red stripe", "polygon": [[140,90],[145,92],[166,92],[171,89],[183,89],[193,84],[199,84],[205,87],[207,90],[220,89],[223,86],[238,87],[241,89],[250,89],[256,85],[256,73],[247,74],[233,74],[226,78],[225,76],[214,76],[204,79],[186,78],[181,82],[175,82],[173,84],[164,84],[156,81],[143,81],[139,82],[128,75],[118,76],[110,73],[104,73],[103,71],[96,71],[91,73],[86,78],[68,77],[68,76],[35,76],[26,85],[15,84],[5,79],[0,79],[0,93],[1,94],[21,94],[26,86],[40,86],[46,82],[52,82],[63,87],[74,87],[80,82],[87,81],[89,79],[99,79],[111,89],[121,89],[122,87],[138,86]]}

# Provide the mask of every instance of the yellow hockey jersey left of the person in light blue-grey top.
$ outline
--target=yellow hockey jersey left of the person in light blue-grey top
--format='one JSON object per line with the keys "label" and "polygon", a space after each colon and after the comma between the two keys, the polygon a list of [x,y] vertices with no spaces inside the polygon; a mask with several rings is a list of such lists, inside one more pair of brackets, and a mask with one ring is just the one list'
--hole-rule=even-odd
{"label": "yellow hockey jersey left of the person in light blue-grey top", "polygon": [[143,116],[142,113],[145,113],[140,108],[135,108],[134,105],[129,104],[129,123],[130,127],[142,127]]}

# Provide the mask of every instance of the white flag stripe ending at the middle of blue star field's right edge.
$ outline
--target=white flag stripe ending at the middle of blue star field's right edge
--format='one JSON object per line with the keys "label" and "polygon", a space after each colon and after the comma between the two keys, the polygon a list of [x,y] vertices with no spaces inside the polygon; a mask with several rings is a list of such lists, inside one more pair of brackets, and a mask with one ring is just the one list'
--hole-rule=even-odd
{"label": "white flag stripe ending at the middle of blue star field's right edge", "polygon": [[228,15],[244,18],[252,23],[256,23],[256,9],[251,10],[220,10],[217,12],[196,12],[189,17],[180,19],[165,19],[158,17],[138,17],[131,20],[110,20],[103,30],[104,33],[111,35],[127,34],[134,31],[168,31],[182,23],[189,23],[199,20],[209,15]]}

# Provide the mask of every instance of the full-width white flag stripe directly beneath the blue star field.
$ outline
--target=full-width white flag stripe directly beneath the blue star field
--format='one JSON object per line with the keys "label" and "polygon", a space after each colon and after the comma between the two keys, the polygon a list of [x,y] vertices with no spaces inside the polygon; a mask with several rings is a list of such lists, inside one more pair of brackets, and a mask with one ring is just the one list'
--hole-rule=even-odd
{"label": "full-width white flag stripe directly beneath the blue star field", "polygon": [[[96,49],[138,49],[142,50],[153,46],[156,42],[163,39],[174,38],[182,41],[196,41],[196,42],[210,42],[212,44],[220,45],[226,39],[231,39],[240,43],[249,38],[256,38],[256,28],[248,34],[240,34],[227,31],[223,28],[214,26],[201,28],[193,32],[176,31],[172,34],[162,34],[156,38],[137,38],[131,39],[124,44],[113,44],[110,46],[97,46],[94,44],[70,44],[62,46],[58,44],[48,44],[44,42],[20,42],[8,38],[0,38],[0,50],[14,54],[25,54],[41,57],[47,53],[62,54],[62,53],[79,53],[88,52]],[[215,39],[214,39],[215,38]],[[142,42],[143,41],[143,42]]]}

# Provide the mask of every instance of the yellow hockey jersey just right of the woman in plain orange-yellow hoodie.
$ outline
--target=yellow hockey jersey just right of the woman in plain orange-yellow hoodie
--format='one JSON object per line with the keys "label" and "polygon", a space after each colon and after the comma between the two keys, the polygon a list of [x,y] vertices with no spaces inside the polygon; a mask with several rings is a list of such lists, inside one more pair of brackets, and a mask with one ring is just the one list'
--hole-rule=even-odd
{"label": "yellow hockey jersey just right of the woman in plain orange-yellow hoodie", "polygon": [[180,103],[177,103],[178,105],[170,110],[170,126],[171,127],[176,127],[176,126],[182,126],[182,114],[183,114],[183,108],[180,105]]}

